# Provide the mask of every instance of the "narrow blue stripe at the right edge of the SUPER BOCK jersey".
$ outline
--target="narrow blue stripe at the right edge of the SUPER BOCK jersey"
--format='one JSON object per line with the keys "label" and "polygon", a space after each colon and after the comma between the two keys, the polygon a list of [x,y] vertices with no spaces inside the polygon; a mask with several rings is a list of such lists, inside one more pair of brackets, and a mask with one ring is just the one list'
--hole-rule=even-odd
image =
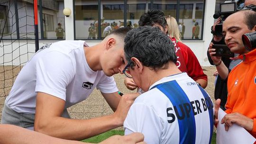
{"label": "narrow blue stripe at the right edge of the SUPER BOCK jersey", "polygon": [[[198,86],[199,89],[201,90],[202,94],[203,94],[203,97],[205,99],[205,103],[206,105],[212,105],[213,107],[213,103],[212,101],[208,101],[210,103],[207,104],[207,100],[206,99],[209,99],[209,95],[206,93],[206,91],[201,87],[201,86]],[[208,108],[208,112],[209,112],[209,118],[210,118],[210,140],[209,140],[209,144],[211,143],[211,137],[212,137],[212,132],[213,132],[213,124],[214,124],[214,117],[213,117],[213,108]]]}

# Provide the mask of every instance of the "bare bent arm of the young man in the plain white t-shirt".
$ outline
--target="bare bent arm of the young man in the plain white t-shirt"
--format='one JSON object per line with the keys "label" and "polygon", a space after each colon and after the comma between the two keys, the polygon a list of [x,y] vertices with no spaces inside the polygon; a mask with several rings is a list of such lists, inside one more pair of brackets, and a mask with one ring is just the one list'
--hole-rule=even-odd
{"label": "bare bent arm of the young man in the plain white t-shirt", "polygon": [[87,120],[61,117],[64,105],[63,99],[38,92],[35,131],[58,138],[82,140],[123,125],[114,115]]}

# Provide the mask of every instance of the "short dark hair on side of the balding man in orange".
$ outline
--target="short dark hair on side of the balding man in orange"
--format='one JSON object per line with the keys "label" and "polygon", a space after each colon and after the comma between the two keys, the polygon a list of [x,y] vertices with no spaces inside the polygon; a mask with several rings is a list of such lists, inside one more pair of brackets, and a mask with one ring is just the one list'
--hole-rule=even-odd
{"label": "short dark hair on side of the balding man in orange", "polygon": [[242,10],[242,12],[245,15],[245,24],[247,25],[248,29],[252,30],[256,25],[256,12],[253,10]]}

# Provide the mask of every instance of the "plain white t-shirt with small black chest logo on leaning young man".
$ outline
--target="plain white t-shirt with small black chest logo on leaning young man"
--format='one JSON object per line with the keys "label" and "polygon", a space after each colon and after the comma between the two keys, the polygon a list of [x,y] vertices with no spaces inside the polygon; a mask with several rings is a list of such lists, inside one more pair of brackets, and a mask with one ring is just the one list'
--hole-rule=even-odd
{"label": "plain white t-shirt with small black chest logo on leaning young man", "polygon": [[6,99],[18,113],[34,114],[37,92],[65,100],[65,108],[89,97],[96,87],[117,92],[113,77],[92,71],[86,62],[84,41],[60,41],[45,45],[22,68]]}

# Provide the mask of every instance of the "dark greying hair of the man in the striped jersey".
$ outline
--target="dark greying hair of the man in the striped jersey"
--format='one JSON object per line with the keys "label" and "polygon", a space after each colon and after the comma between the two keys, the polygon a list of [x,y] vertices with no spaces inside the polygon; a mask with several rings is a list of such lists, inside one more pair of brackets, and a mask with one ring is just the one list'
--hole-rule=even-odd
{"label": "dark greying hair of the man in the striped jersey", "polygon": [[[130,30],[125,37],[124,52],[126,60],[136,57],[143,65],[158,69],[167,69],[167,63],[176,63],[177,57],[170,38],[159,27],[138,27]],[[131,64],[131,68],[133,68]]]}

